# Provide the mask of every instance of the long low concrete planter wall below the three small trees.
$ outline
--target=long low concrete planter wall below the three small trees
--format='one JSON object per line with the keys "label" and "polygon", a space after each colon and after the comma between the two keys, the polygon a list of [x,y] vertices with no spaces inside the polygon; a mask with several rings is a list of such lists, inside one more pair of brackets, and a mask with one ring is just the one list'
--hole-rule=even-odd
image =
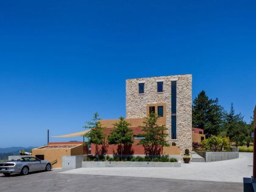
{"label": "long low concrete planter wall below the three small trees", "polygon": [[180,162],[82,162],[83,168],[94,167],[180,167]]}

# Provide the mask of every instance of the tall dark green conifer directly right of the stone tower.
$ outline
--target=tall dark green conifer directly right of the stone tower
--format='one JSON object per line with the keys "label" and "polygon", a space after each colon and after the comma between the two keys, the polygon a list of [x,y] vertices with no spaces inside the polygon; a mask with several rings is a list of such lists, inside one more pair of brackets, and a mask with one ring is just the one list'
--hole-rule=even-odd
{"label": "tall dark green conifer directly right of the stone tower", "polygon": [[223,127],[223,108],[218,102],[218,98],[209,99],[204,90],[193,101],[193,127],[204,129],[207,138],[218,135]]}

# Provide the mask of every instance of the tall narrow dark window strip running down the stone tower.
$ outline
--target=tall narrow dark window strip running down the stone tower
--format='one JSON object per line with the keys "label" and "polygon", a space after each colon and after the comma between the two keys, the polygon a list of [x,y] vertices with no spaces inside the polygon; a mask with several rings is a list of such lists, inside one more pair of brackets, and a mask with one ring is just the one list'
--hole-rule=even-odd
{"label": "tall narrow dark window strip running down the stone tower", "polygon": [[177,82],[171,82],[171,139],[176,140],[176,99],[177,99]]}

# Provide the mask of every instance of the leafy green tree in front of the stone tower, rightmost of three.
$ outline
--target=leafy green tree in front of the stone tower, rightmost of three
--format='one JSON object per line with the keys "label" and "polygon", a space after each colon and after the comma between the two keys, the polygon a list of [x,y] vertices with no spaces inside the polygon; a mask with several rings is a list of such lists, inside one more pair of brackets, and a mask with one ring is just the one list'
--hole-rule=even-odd
{"label": "leafy green tree in front of the stone tower, rightmost of three", "polygon": [[144,126],[141,126],[144,134],[140,134],[140,137],[144,137],[138,144],[144,146],[145,151],[148,151],[151,155],[156,155],[160,146],[169,146],[169,143],[165,140],[168,136],[165,126],[158,126],[157,119],[159,117],[155,113],[151,113],[145,121]]}

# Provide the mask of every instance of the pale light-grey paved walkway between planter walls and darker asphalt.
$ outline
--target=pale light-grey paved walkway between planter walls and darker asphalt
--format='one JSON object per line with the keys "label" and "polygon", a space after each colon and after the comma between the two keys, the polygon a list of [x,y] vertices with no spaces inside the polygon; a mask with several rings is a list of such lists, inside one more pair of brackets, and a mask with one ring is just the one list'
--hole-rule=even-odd
{"label": "pale light-grey paved walkway between planter walls and darker asphalt", "polygon": [[252,176],[252,153],[240,152],[240,158],[221,162],[182,164],[181,168],[79,168],[64,174],[151,177],[163,179],[243,182]]}

